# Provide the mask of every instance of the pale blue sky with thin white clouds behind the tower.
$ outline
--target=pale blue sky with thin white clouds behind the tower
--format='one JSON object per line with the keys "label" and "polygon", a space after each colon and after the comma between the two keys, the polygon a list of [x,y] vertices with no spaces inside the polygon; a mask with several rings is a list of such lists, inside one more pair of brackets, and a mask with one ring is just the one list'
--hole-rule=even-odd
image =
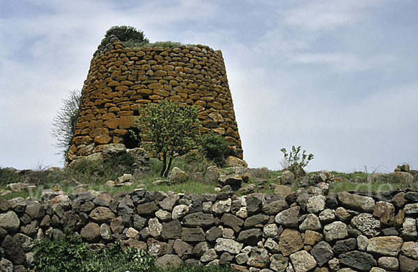
{"label": "pale blue sky with thin white clouds behind the tower", "polygon": [[222,50],[251,168],[418,168],[418,1],[1,0],[0,166],[63,166],[52,120],[111,26]]}

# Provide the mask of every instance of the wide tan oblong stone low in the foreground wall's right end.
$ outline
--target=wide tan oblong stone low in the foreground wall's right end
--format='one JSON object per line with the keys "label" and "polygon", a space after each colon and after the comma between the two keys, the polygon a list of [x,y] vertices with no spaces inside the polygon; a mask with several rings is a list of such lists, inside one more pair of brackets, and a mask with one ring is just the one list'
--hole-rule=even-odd
{"label": "wide tan oblong stone low in the foreground wall's right end", "polygon": [[396,257],[398,256],[399,251],[401,250],[402,243],[403,240],[401,237],[373,237],[369,239],[367,252]]}

